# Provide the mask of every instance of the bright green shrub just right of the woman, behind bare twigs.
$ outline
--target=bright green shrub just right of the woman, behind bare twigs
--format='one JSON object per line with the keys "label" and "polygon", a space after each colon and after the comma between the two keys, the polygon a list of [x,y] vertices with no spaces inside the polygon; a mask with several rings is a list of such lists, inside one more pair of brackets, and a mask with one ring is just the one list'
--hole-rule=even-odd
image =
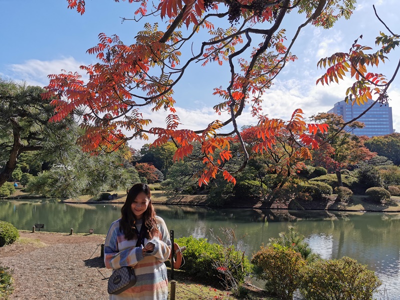
{"label": "bright green shrub just right of the woman, behind bare twigs", "polygon": [[[184,251],[185,263],[181,269],[185,270],[189,275],[207,280],[209,282],[222,283],[220,272],[212,267],[213,263],[222,262],[223,248],[222,245],[209,243],[206,238],[194,238],[193,236],[180,237],[175,240],[179,246],[186,246]],[[238,282],[244,281],[244,276],[250,272],[250,263],[247,257],[241,251],[231,250],[229,269],[234,273]],[[237,265],[242,263],[242,267]]]}

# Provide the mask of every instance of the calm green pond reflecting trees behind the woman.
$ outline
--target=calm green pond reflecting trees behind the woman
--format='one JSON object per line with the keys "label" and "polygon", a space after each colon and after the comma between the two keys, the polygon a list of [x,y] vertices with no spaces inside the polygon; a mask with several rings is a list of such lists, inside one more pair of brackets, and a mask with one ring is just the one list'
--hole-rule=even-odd
{"label": "calm green pond reflecting trees behind the woman", "polygon": [[[66,204],[49,199],[2,200],[0,219],[18,229],[43,223],[45,231],[106,234],[122,204]],[[251,257],[261,243],[292,225],[323,258],[349,256],[383,280],[389,299],[400,299],[400,213],[287,211],[155,205],[175,238],[193,235],[212,240],[210,229],[234,227]],[[93,249],[94,250],[94,249]],[[88,253],[89,255],[91,253]],[[379,298],[379,296],[377,295]],[[383,297],[382,297],[383,298]]]}

